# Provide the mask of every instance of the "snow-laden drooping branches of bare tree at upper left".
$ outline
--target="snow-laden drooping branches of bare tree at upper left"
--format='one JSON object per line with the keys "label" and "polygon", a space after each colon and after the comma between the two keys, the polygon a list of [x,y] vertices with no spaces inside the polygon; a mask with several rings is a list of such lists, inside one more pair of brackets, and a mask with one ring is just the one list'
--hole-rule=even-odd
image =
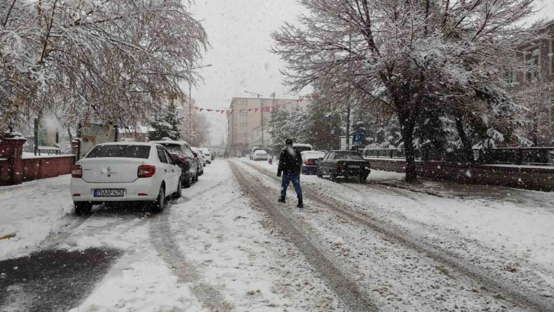
{"label": "snow-laden drooping branches of bare tree at upper left", "polygon": [[2,2],[2,129],[49,111],[66,123],[146,121],[196,82],[207,37],[180,0]]}

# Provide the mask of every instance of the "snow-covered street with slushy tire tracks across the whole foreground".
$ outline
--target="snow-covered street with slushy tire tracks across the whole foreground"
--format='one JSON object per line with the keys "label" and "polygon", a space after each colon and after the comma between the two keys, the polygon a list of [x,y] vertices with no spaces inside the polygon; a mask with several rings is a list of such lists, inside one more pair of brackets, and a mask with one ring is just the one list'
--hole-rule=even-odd
{"label": "snow-covered street with slushy tire tracks across the whole foreground", "polygon": [[[302,210],[294,190],[276,202],[275,169],[216,160],[155,215],[75,217],[68,176],[0,187],[0,236],[17,232],[0,241],[0,310],[554,311],[552,193],[439,198],[302,175]],[[58,277],[64,259],[87,265]]]}

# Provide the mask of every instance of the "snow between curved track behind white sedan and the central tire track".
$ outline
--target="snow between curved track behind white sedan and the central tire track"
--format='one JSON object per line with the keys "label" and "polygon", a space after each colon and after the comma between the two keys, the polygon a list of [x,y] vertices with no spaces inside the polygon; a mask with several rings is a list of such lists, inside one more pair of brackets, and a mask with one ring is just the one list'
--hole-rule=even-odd
{"label": "snow between curved track behind white sedan and the central tire track", "polygon": [[175,204],[170,218],[182,254],[204,282],[234,311],[342,311],[302,254],[264,226],[265,215],[250,207],[228,162],[216,161],[206,172],[212,170],[223,183]]}

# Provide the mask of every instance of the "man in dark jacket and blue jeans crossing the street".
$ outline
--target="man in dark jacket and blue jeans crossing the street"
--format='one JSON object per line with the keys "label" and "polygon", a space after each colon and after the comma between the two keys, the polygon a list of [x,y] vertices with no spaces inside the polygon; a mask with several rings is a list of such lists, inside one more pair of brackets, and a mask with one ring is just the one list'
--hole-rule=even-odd
{"label": "man in dark jacket and blue jeans crossing the street", "polygon": [[286,197],[286,189],[289,183],[293,182],[296,197],[298,197],[298,208],[304,208],[302,202],[302,188],[300,188],[300,170],[302,168],[302,156],[300,151],[294,149],[293,140],[285,141],[285,149],[279,155],[279,167],[277,168],[277,176],[281,176],[283,172],[283,180],[281,182],[281,198],[279,202],[284,203]]}

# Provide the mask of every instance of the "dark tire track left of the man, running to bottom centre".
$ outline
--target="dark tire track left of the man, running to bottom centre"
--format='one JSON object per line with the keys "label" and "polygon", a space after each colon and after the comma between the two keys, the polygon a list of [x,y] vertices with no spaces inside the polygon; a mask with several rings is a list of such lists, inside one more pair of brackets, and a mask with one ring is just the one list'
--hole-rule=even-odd
{"label": "dark tire track left of the man, running to bottom centre", "polygon": [[284,216],[279,209],[271,208],[276,206],[276,201],[269,200],[267,194],[259,188],[250,187],[253,183],[248,181],[247,177],[240,172],[237,164],[230,162],[231,170],[237,177],[240,186],[245,193],[250,195],[250,198],[259,203],[259,207],[263,208],[266,213],[277,223],[280,229],[286,236],[293,241],[296,247],[305,255],[306,260],[321,273],[329,287],[340,296],[353,311],[372,312],[378,311],[375,303],[370,300],[370,296],[365,293],[356,282],[343,273],[330,259],[315,247],[315,245],[307,238],[304,233],[297,229],[294,224]]}

